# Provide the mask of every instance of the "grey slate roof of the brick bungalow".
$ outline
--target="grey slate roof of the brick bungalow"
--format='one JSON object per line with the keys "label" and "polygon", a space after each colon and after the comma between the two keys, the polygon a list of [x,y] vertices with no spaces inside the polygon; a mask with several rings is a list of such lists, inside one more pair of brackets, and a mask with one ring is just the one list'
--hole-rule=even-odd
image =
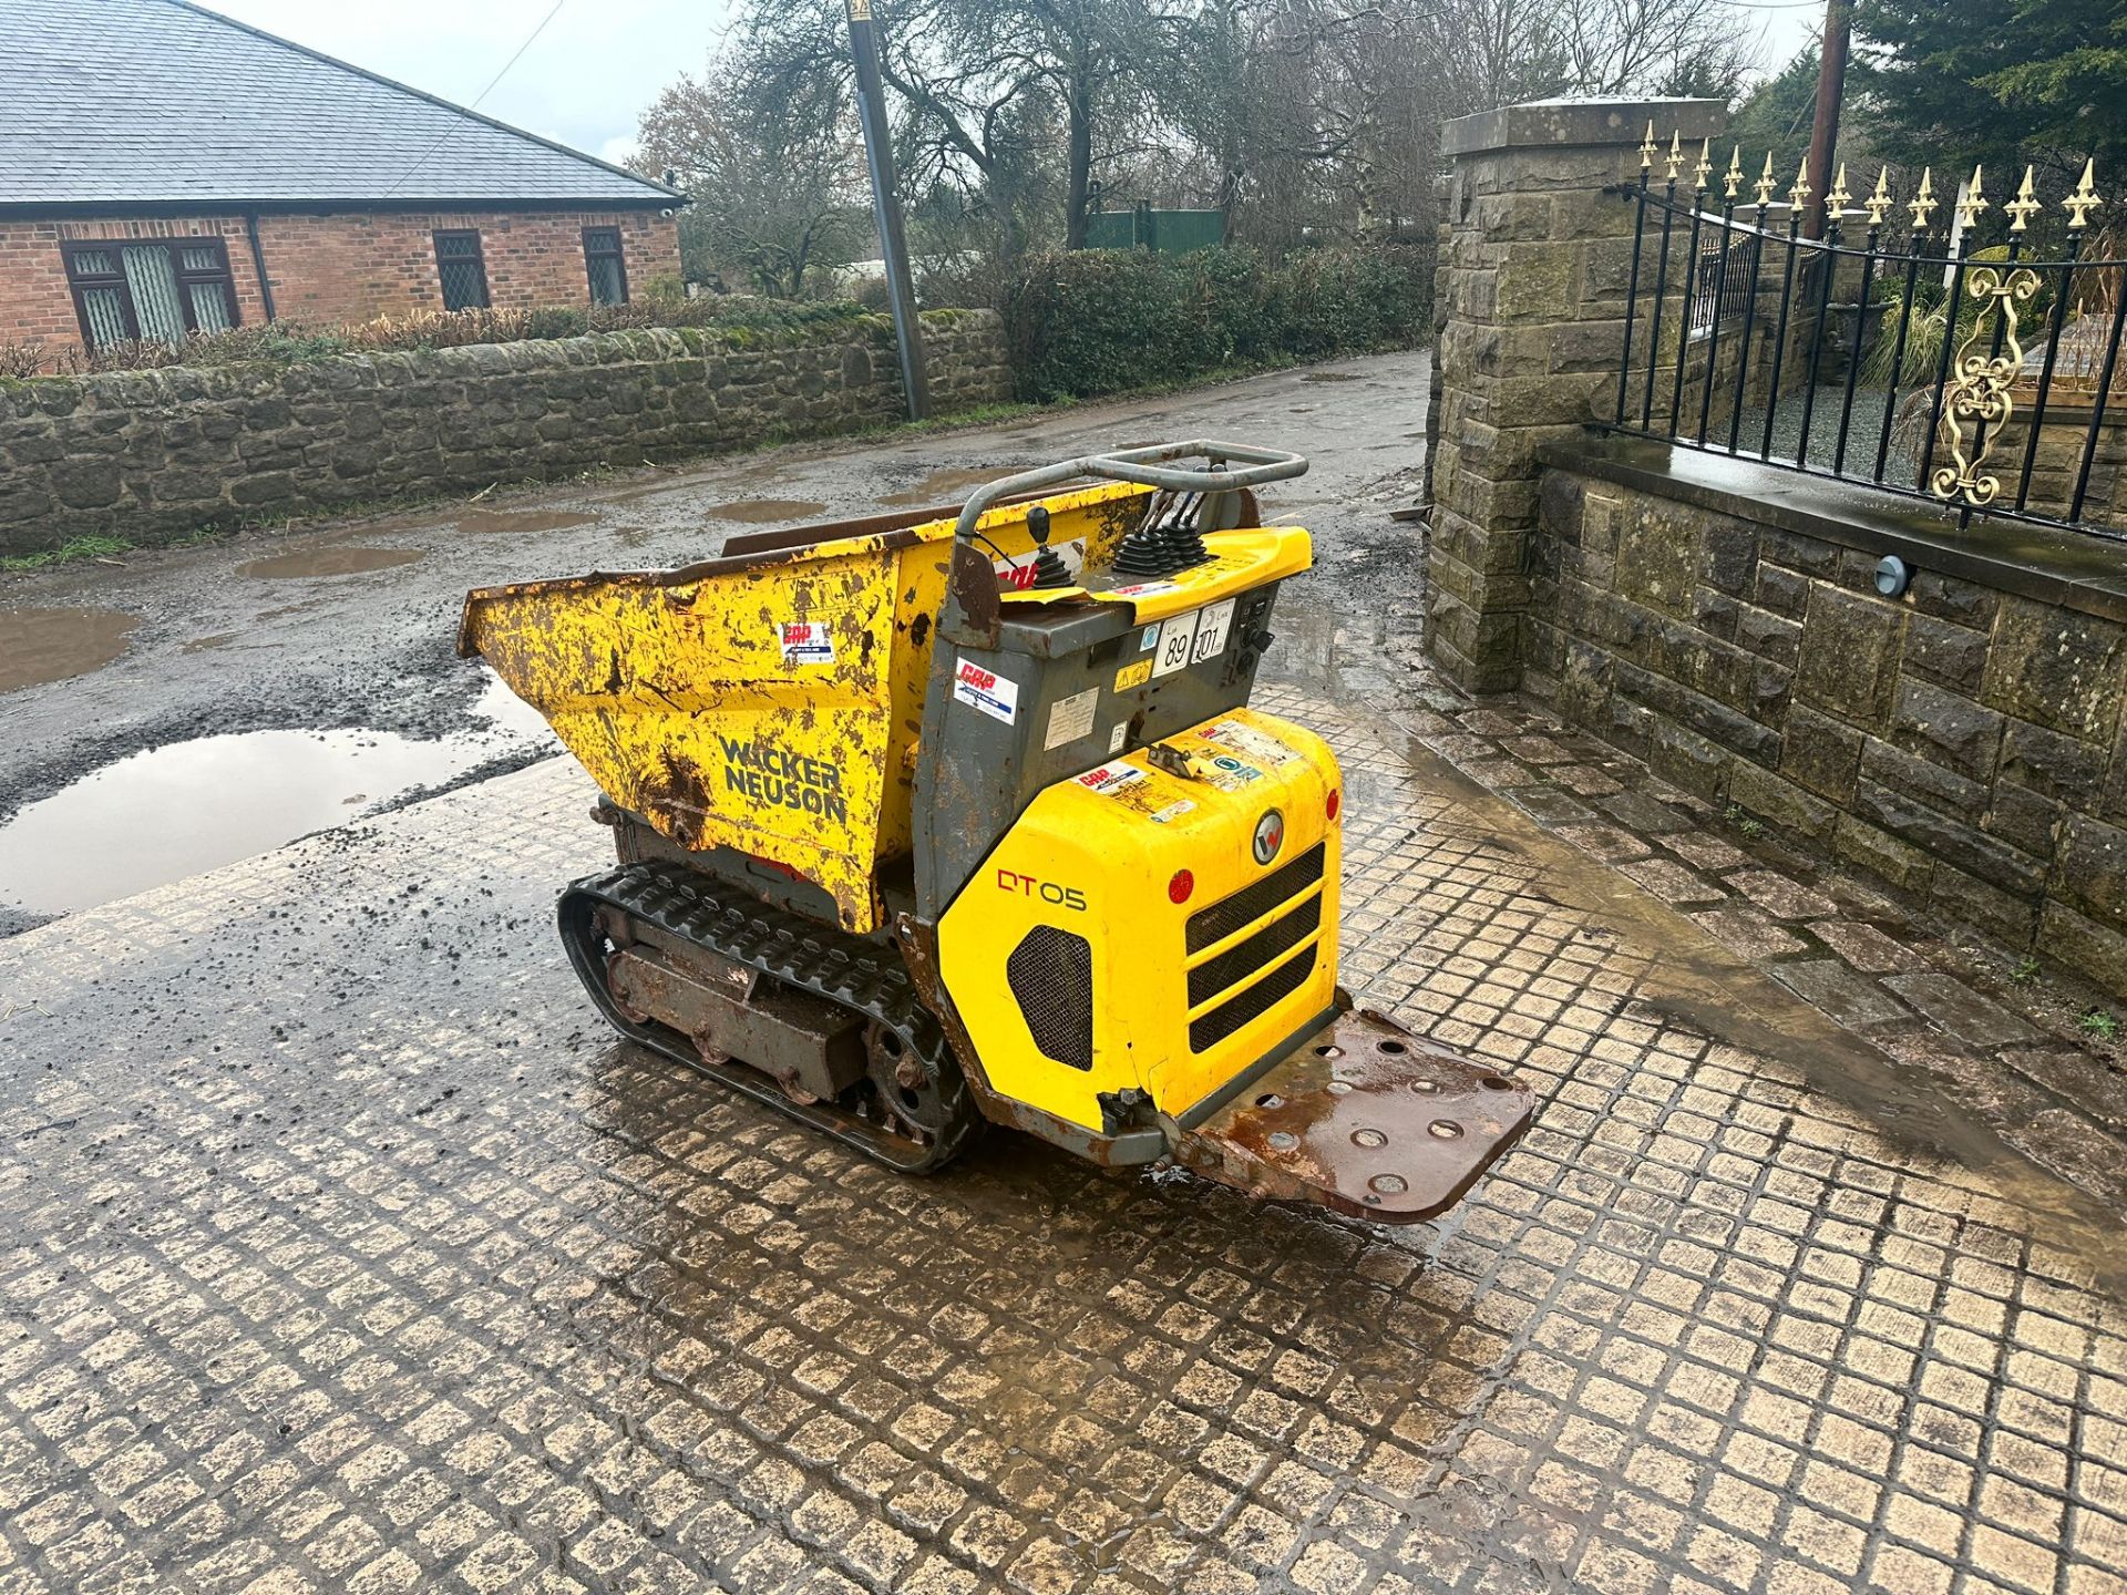
{"label": "grey slate roof of the brick bungalow", "polygon": [[0,208],[353,200],[683,202],[185,0],[0,0]]}

